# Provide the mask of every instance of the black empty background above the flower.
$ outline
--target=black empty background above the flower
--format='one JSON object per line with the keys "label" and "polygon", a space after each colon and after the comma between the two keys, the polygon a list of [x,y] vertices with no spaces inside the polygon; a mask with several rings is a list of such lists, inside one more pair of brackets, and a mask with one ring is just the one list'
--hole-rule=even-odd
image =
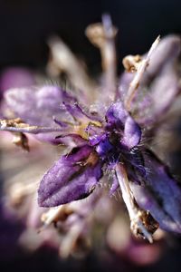
{"label": "black empty background above the flower", "polygon": [[88,24],[109,13],[119,28],[121,58],[144,53],[158,34],[181,33],[179,0],[0,0],[0,68],[8,65],[41,67],[46,63],[46,39],[60,34],[88,64],[100,71],[100,54],[84,35]]}

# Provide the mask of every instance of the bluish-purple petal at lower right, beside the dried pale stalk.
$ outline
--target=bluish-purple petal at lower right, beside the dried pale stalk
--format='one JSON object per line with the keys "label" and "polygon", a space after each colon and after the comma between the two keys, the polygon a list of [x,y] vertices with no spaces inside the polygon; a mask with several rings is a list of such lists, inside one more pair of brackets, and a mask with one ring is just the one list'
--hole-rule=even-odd
{"label": "bluish-purple petal at lower right, beside the dried pale stalk", "polygon": [[181,232],[181,188],[168,173],[167,167],[147,151],[144,154],[148,169],[148,185],[130,183],[138,206],[149,210],[160,225],[168,231]]}

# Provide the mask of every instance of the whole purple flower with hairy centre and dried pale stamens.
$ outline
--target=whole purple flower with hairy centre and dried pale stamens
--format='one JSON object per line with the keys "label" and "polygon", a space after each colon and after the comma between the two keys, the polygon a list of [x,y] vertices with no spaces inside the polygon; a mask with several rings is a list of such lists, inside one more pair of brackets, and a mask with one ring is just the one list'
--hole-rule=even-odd
{"label": "whole purple flower with hairy centre and dried pale stamens", "polygon": [[122,191],[132,231],[152,242],[157,223],[181,232],[181,189],[142,141],[179,92],[175,64],[180,39],[171,36],[160,44],[157,39],[143,59],[134,63],[133,58],[136,72],[124,73],[117,90],[110,70],[115,61],[110,17],[103,17],[103,25],[96,27],[103,33],[99,46],[105,79],[93,110],[88,101],[82,105],[78,95],[57,86],[12,89],[5,93],[5,116],[11,119],[1,120],[0,128],[70,147],[44,174],[38,189],[40,206],[86,198],[108,174],[110,194],[119,187]]}

